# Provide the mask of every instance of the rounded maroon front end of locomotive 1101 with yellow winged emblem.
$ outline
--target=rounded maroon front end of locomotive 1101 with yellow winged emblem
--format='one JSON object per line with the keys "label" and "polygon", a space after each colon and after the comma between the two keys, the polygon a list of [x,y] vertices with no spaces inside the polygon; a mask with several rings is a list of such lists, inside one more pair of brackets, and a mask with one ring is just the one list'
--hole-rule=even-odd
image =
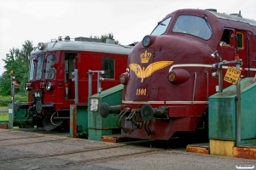
{"label": "rounded maroon front end of locomotive 1101 with yellow winged emblem", "polygon": [[102,117],[117,114],[123,136],[168,140],[180,132],[207,131],[212,27],[200,13],[167,15],[132,49],[119,77],[125,85],[122,105],[100,107]]}

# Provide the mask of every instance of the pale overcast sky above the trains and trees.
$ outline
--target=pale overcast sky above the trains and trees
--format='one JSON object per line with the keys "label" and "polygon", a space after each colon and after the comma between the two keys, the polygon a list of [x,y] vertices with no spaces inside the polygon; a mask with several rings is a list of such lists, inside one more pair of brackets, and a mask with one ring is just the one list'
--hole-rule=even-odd
{"label": "pale overcast sky above the trains and trees", "polygon": [[26,40],[37,46],[59,36],[71,38],[113,33],[127,45],[153,31],[166,14],[181,8],[216,8],[256,20],[256,0],[1,0],[0,75],[11,48]]}

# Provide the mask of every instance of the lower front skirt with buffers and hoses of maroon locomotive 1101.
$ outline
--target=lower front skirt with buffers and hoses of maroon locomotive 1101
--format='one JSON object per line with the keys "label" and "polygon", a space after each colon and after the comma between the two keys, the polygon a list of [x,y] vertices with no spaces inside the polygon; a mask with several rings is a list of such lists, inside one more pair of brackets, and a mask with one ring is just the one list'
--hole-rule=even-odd
{"label": "lower front skirt with buffers and hoses of maroon locomotive 1101", "polygon": [[166,106],[153,108],[145,104],[141,108],[131,109],[102,103],[100,107],[102,117],[108,116],[108,113],[118,114],[116,125],[126,137],[167,140],[175,135],[189,137],[189,133],[196,133],[201,139],[207,137],[207,113],[203,116],[169,117]]}

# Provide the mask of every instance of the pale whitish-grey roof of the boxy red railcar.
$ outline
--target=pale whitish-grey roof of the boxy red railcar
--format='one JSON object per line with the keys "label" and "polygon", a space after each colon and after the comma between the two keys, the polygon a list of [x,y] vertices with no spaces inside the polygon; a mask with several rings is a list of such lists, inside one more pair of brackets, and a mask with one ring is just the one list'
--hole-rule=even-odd
{"label": "pale whitish-grey roof of the boxy red railcar", "polygon": [[81,41],[54,41],[44,43],[43,50],[34,48],[31,54],[38,54],[47,51],[65,50],[65,51],[93,51],[99,53],[111,54],[130,54],[131,46],[110,44],[103,42],[81,42]]}

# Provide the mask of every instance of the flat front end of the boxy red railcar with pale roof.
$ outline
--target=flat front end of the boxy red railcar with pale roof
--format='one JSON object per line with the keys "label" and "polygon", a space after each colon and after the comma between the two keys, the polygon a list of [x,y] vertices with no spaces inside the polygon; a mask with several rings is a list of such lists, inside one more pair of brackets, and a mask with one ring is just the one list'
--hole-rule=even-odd
{"label": "flat front end of the boxy red railcar with pale roof", "polygon": [[[28,82],[24,86],[28,92],[28,103],[20,105],[15,102],[15,111],[27,109],[27,116],[32,116],[32,126],[44,127],[47,131],[63,127],[64,122],[64,119],[56,114],[62,103],[61,98],[57,96],[63,95],[64,82],[60,81],[58,74],[61,55],[48,47],[53,44],[54,42],[39,42],[38,48],[32,51]],[[61,116],[63,117],[63,114]],[[65,116],[68,116],[68,112]]]}

